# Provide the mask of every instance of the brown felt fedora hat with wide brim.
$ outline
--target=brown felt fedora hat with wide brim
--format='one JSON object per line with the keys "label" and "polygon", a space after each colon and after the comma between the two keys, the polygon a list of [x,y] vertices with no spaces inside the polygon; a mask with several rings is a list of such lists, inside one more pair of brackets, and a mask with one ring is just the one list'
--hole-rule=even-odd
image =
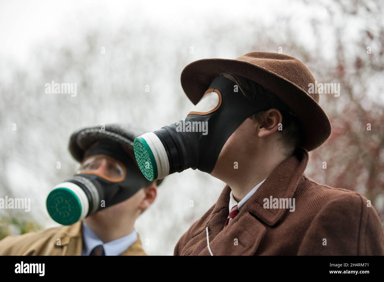
{"label": "brown felt fedora hat with wide brim", "polygon": [[197,104],[211,79],[221,73],[251,79],[279,96],[300,120],[305,135],[302,147],[306,150],[316,149],[331,134],[319,94],[308,94],[308,85],[316,85],[315,79],[299,59],[270,52],[251,52],[237,59],[201,59],[183,69],[181,86],[190,101]]}

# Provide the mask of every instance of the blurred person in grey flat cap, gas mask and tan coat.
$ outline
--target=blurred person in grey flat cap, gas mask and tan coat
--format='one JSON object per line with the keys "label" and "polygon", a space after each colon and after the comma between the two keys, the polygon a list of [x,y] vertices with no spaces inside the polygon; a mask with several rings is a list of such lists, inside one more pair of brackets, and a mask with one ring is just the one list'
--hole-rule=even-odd
{"label": "blurred person in grey flat cap, gas mask and tan coat", "polygon": [[134,223],[161,181],[148,181],[137,166],[133,140],[142,132],[117,124],[74,132],[69,150],[80,166],[46,199],[63,226],[5,237],[0,255],[146,255]]}

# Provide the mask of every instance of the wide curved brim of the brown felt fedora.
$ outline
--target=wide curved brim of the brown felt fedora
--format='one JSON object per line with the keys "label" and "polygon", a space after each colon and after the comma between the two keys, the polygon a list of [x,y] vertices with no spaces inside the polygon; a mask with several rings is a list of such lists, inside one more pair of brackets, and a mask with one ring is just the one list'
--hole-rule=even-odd
{"label": "wide curved brim of the brown felt fedora", "polygon": [[[294,71],[294,70],[292,70]],[[234,59],[201,59],[188,64],[181,73],[181,86],[193,104],[208,89],[211,79],[221,73],[234,73],[251,79],[272,91],[301,122],[305,141],[301,147],[311,151],[331,134],[331,123],[319,104],[303,89],[265,68]]]}

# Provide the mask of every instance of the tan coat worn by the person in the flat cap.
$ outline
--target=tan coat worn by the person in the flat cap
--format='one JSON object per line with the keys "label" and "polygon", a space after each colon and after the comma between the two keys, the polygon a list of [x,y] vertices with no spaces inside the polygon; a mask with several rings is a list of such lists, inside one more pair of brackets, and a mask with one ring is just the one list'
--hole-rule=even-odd
{"label": "tan coat worn by the person in the flat cap", "polygon": [[[0,256],[81,256],[82,248],[81,221],[78,221],[69,226],[5,237],[0,241]],[[146,256],[140,238],[121,256]]]}

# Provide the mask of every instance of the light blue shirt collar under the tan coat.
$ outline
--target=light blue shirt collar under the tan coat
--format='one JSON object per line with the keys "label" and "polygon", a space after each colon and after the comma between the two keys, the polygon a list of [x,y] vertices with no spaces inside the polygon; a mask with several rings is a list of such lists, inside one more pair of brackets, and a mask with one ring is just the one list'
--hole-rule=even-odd
{"label": "light blue shirt collar under the tan coat", "polygon": [[134,229],[132,233],[121,237],[119,239],[110,241],[108,243],[103,243],[96,234],[93,233],[91,228],[83,221],[83,250],[81,252],[82,256],[89,256],[94,247],[103,245],[104,252],[106,256],[119,256],[126,249],[132,246],[134,242],[137,241],[138,235]]}

